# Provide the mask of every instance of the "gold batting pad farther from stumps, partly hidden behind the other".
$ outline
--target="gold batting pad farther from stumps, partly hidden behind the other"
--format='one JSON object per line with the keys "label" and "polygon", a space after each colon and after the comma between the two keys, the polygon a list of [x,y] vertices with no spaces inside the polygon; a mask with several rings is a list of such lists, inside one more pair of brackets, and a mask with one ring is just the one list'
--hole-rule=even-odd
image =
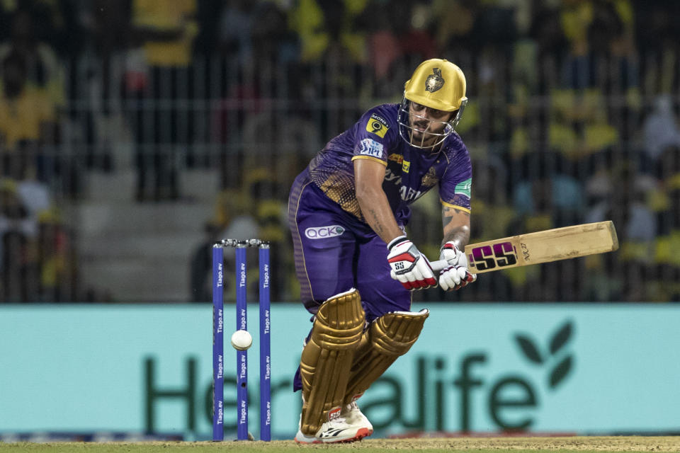
{"label": "gold batting pad farther from stumps, partly hidden behind the other", "polygon": [[371,323],[354,354],[344,404],[363,394],[400,355],[416,342],[430,312],[393,311]]}

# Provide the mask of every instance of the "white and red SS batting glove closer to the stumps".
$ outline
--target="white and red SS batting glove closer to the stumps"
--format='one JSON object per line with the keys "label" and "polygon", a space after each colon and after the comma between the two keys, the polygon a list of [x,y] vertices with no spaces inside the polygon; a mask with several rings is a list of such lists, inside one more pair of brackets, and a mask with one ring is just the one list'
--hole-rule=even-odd
{"label": "white and red SS batting glove closer to the stumps", "polygon": [[425,289],[437,285],[437,279],[430,262],[418,251],[406,236],[392,239],[387,245],[387,261],[390,263],[390,275],[399,280],[406,289]]}

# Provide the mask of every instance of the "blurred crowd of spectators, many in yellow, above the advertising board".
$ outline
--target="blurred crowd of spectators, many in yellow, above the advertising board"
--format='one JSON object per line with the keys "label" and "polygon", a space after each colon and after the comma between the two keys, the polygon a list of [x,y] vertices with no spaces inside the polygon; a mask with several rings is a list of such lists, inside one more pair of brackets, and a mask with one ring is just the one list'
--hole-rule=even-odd
{"label": "blurred crowd of spectators, many in yellow, above the advertising board", "polygon": [[[215,169],[206,243],[273,243],[295,300],[288,186],[366,108],[399,102],[422,59],[467,77],[472,241],[612,219],[616,253],[507,270],[414,300],[680,300],[680,4],[652,0],[0,1],[0,300],[89,300],[84,175],[135,168],[133,202],[183,200]],[[410,236],[438,256],[435,194]],[[189,299],[210,300],[209,248]]]}

